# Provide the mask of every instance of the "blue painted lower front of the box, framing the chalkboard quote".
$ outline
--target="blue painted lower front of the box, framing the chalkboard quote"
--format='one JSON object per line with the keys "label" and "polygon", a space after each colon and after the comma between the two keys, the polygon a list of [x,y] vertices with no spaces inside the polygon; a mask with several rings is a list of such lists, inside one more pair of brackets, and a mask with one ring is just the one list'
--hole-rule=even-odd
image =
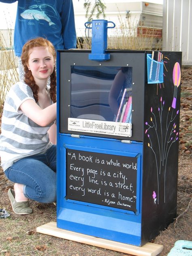
{"label": "blue painted lower front of the box, framing the chalkboard quote", "polygon": [[[143,144],[127,144],[114,139],[101,139],[93,137],[72,138],[68,135],[60,134],[57,146],[57,227],[85,235],[141,246],[141,166],[143,161]],[[99,205],[94,203],[94,201],[89,200],[88,197],[87,201],[78,201],[77,199],[75,200],[75,198],[68,197],[66,193],[68,186],[66,177],[70,176],[67,175],[67,172],[69,172],[69,170],[66,168],[68,162],[67,158],[71,152],[74,152],[74,150],[78,150],[78,152],[82,150],[84,152],[87,151],[103,154],[103,159],[107,157],[106,155],[112,155],[114,159],[116,158],[115,156],[117,156],[117,158],[119,158],[118,156],[120,156],[120,158],[121,156],[125,158],[128,157],[129,159],[137,158],[137,186],[134,186],[137,188],[137,194],[135,194],[137,195],[136,211],[129,209],[126,210],[123,207],[120,207],[121,209],[114,208],[113,205],[110,205],[110,207],[105,204]],[[72,158],[72,156],[73,155],[71,154],[70,158]],[[93,163],[95,163],[95,161]],[[93,168],[94,165],[98,167],[98,164],[93,164],[93,166],[89,164],[87,167]],[[111,166],[111,168],[113,167]],[[120,171],[121,169],[119,169],[116,173],[120,173]],[[129,169],[127,171],[130,173]],[[78,176],[78,171],[73,172],[75,172],[75,175]],[[110,169],[110,173],[113,173],[112,169]],[[126,174],[126,169],[124,169],[124,174]],[[73,177],[76,176],[73,175]],[[109,182],[107,183],[109,184]],[[81,184],[79,187],[81,187]],[[105,187],[103,186],[103,188]],[[115,194],[115,188],[114,191],[111,190],[111,193]],[[130,193],[130,190],[128,190],[127,193]],[[92,196],[91,193],[90,196]]]}

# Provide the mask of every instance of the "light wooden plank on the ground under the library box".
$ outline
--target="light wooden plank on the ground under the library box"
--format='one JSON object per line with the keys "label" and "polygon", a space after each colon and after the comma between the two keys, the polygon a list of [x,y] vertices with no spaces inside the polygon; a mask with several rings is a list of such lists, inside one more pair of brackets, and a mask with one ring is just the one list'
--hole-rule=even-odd
{"label": "light wooden plank on the ground under the library box", "polygon": [[84,235],[61,228],[57,228],[56,222],[49,222],[36,228],[38,233],[45,235],[51,235],[54,237],[60,237],[67,240],[76,241],[79,243],[85,243],[88,245],[94,245],[105,249],[132,254],[136,256],[156,256],[163,250],[163,245],[156,243],[146,243],[139,247],[135,245],[128,245],[126,243],[119,243],[99,237],[93,237],[90,235]]}

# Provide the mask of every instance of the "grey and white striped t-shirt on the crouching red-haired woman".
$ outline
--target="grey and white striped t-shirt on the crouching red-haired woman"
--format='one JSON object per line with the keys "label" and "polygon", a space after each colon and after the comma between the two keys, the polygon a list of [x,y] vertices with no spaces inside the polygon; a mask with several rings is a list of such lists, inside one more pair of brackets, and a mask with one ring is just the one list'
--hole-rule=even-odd
{"label": "grey and white striped t-shirt on the crouching red-haired woman", "polygon": [[0,134],[1,166],[5,171],[13,162],[36,154],[43,154],[52,143],[47,131],[50,126],[39,126],[20,109],[28,99],[34,100],[31,88],[18,82],[9,91],[4,102]]}

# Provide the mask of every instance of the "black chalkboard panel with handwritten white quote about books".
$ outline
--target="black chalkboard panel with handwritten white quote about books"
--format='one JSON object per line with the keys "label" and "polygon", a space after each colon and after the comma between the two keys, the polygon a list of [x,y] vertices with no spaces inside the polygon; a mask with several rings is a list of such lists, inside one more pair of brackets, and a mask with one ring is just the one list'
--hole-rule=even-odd
{"label": "black chalkboard panel with handwritten white quote about books", "polygon": [[66,150],[66,199],[136,212],[137,157]]}

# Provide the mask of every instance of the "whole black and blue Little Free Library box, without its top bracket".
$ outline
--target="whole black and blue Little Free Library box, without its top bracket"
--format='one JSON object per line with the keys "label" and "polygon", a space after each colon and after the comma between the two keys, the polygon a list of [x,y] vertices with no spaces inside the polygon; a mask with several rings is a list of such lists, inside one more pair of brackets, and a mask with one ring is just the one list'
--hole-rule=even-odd
{"label": "whole black and blue Little Free Library box, without its top bracket", "polygon": [[143,246],[176,217],[181,52],[57,55],[57,228]]}

